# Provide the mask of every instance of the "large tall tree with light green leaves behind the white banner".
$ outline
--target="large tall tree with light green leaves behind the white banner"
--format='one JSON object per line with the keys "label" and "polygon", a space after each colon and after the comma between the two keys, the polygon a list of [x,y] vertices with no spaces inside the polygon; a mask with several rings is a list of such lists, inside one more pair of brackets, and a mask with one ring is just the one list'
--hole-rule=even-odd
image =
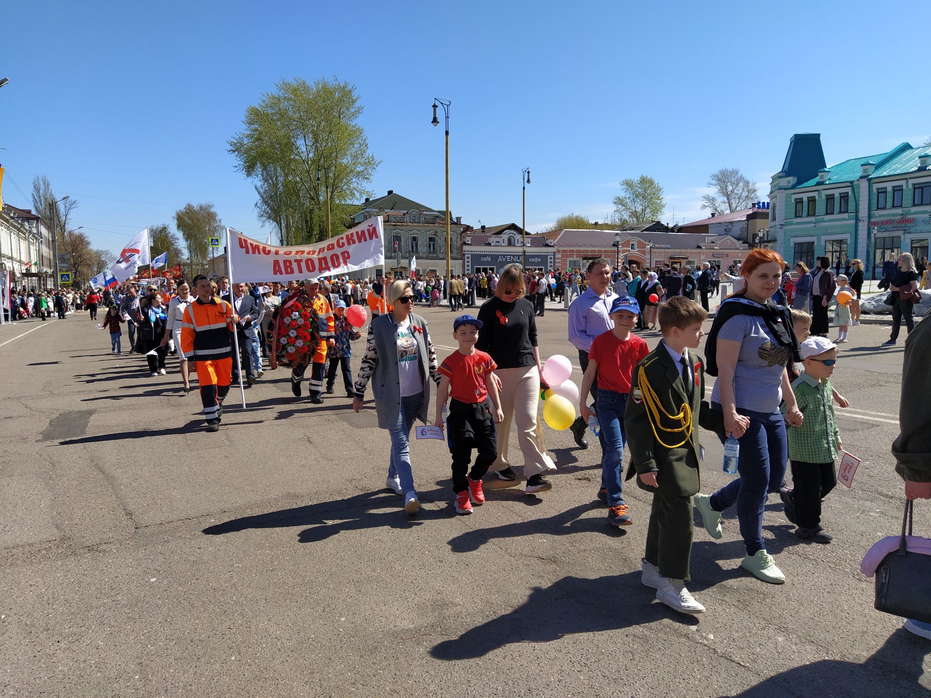
{"label": "large tall tree with light green leaves behind the white banner", "polygon": [[229,152],[255,181],[259,218],[275,226],[282,245],[342,233],[356,202],[371,194],[364,185],[379,161],[358,125],[361,114],[356,87],[336,78],[282,80],[246,110]]}

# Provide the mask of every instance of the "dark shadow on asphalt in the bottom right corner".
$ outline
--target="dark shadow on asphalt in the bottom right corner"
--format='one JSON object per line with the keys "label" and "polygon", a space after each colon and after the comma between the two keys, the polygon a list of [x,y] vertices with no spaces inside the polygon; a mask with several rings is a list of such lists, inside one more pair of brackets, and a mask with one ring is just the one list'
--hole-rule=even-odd
{"label": "dark shadow on asphalt in the bottom right corner", "polygon": [[[856,695],[857,698],[926,696],[920,683],[924,655],[931,643],[899,629],[883,647],[862,664],[822,660],[804,664],[766,678],[746,691],[727,693],[727,698],[771,698],[772,696]],[[722,696],[724,698],[724,696]]]}

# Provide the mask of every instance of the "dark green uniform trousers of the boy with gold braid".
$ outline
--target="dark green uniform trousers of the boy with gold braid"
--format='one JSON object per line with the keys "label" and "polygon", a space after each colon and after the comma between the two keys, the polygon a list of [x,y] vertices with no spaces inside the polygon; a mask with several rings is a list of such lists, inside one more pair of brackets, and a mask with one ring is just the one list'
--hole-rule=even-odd
{"label": "dark green uniform trousers of the boy with gold braid", "polygon": [[689,581],[692,498],[654,492],[643,557],[669,579]]}

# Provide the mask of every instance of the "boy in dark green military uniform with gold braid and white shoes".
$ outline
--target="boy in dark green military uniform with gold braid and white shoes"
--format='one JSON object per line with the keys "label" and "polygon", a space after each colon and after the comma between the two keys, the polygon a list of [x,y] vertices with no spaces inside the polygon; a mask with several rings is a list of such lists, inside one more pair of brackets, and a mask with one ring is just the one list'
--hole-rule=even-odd
{"label": "boy in dark green military uniform with gold braid and white shoes", "polygon": [[[659,306],[663,339],[634,369],[624,415],[630,445],[627,478],[653,494],[641,583],[681,613],[705,607],[685,588],[692,557],[692,495],[699,489],[698,441],[705,370],[695,355],[708,314],[695,301],[673,296]],[[702,426],[712,419],[705,403]]]}

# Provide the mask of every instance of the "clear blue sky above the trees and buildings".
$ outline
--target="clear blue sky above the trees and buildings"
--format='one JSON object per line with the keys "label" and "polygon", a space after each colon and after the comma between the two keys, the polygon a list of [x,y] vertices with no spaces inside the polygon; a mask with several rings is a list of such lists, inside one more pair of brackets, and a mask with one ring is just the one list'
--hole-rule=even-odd
{"label": "clear blue sky above the trees and buildings", "polygon": [[444,208],[440,97],[466,223],[519,223],[525,167],[531,231],[568,212],[603,220],[618,181],[641,174],[666,190],[664,221],[692,221],[717,168],[741,168],[765,198],[792,133],[820,132],[829,166],[923,142],[929,19],[924,0],[13,0],[3,194],[28,208],[47,175],[79,201],[74,225],[115,251],[146,225],[173,227],[188,202],[263,238],[226,141],[277,80],[335,75],[365,106],[375,195]]}

